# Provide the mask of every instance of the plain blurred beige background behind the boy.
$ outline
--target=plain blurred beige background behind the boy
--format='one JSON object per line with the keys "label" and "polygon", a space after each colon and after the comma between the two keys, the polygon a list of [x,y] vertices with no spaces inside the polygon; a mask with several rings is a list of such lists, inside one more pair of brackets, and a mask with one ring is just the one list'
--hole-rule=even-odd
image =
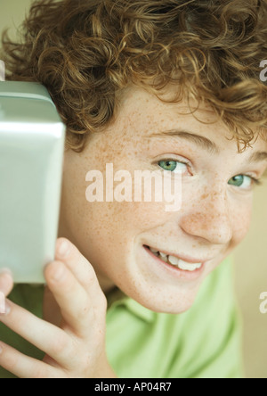
{"label": "plain blurred beige background behind the boy", "polygon": [[[0,0],[0,30],[16,27],[32,0]],[[261,60],[259,60],[261,61]],[[235,285],[244,322],[247,378],[267,378],[267,313],[260,312],[260,295],[267,292],[267,180],[255,188],[254,217],[246,240],[235,252]]]}

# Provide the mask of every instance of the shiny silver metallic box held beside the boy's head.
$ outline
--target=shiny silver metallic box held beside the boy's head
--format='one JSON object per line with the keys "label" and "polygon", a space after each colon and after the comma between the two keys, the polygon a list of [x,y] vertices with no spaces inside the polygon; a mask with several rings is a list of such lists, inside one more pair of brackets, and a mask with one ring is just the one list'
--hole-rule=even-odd
{"label": "shiny silver metallic box held beside the boy's head", "polygon": [[65,126],[45,87],[0,82],[0,270],[44,283],[54,260]]}

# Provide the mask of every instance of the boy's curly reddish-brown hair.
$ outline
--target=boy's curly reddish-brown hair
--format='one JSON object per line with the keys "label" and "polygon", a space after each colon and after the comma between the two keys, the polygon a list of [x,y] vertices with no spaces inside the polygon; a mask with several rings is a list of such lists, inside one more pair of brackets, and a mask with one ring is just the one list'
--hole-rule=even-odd
{"label": "boy's curly reddish-brown hair", "polygon": [[267,128],[266,21],[266,0],[36,0],[2,59],[7,79],[47,87],[76,152],[132,84],[204,101],[246,148]]}

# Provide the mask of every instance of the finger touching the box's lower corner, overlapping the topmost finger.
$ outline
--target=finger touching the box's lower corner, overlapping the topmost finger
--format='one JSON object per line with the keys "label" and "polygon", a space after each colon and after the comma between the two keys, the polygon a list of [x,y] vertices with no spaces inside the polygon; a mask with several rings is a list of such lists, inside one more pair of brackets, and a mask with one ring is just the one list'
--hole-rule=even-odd
{"label": "finger touching the box's lower corner, overlapping the topmost finger", "polygon": [[88,328],[92,326],[93,307],[84,287],[61,261],[50,263],[45,268],[44,275],[70,330],[78,336],[88,336]]}

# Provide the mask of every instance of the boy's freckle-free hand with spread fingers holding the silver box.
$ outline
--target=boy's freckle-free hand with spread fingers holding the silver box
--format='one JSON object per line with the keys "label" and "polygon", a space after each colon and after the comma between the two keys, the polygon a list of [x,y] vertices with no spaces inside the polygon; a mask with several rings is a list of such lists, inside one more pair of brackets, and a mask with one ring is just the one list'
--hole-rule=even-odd
{"label": "boy's freckle-free hand with spread fingers holding the silver box", "polygon": [[[64,247],[65,253],[61,251]],[[61,311],[60,326],[36,318],[8,300],[0,320],[46,356],[39,361],[23,355],[1,342],[0,335],[0,366],[20,378],[115,377],[105,348],[107,301],[91,264],[61,238],[56,260],[45,268],[44,276]],[[10,293],[10,275],[0,276],[0,287],[5,295]]]}

